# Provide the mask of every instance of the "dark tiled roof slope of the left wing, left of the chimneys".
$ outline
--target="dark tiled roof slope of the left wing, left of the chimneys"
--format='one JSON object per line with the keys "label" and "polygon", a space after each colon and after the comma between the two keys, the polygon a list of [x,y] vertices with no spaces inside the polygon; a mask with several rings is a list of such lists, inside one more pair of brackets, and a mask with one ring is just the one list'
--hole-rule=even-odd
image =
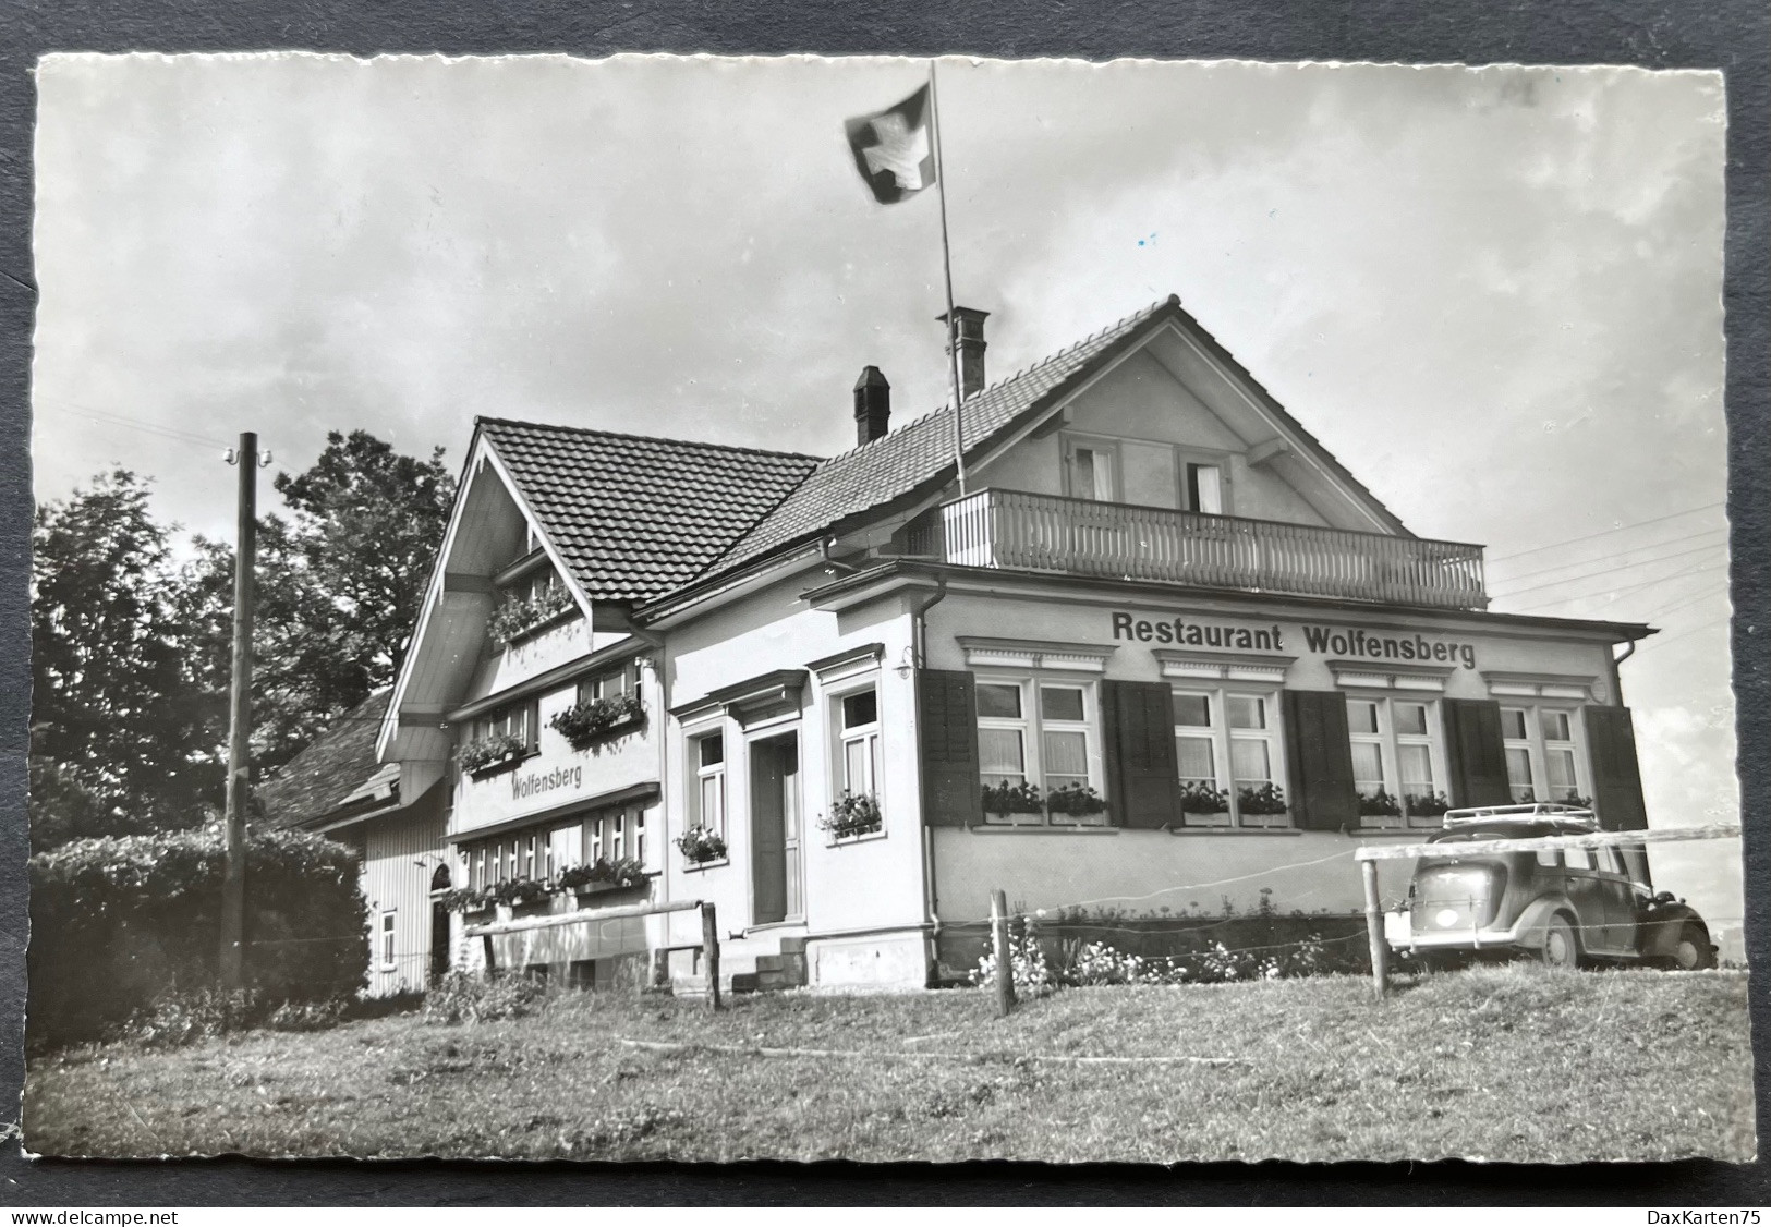
{"label": "dark tiled roof slope of the left wing, left of the chimneys", "polygon": [[816,457],[480,418],[593,600],[646,600],[724,554]]}

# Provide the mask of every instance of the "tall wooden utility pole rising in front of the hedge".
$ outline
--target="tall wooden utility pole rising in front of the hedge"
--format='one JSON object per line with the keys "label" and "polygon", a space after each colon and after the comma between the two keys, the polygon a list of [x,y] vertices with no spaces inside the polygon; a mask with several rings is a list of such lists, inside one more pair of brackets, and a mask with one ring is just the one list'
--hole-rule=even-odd
{"label": "tall wooden utility pole rising in front of the hedge", "polygon": [[[251,779],[251,614],[259,559],[259,436],[246,430],[227,462],[239,467],[234,547],[234,671],[228,685],[227,862],[221,869],[221,988],[239,988],[246,949],[246,800]],[[269,457],[264,457],[269,462]]]}

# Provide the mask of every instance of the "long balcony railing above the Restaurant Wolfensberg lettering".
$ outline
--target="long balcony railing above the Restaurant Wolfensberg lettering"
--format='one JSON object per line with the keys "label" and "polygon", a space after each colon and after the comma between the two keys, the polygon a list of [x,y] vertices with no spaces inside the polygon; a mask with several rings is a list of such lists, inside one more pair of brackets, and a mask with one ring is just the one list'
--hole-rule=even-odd
{"label": "long balcony railing above the Restaurant Wolfensberg lettering", "polygon": [[912,526],[909,554],[960,567],[1295,597],[1486,609],[1482,547],[1312,524],[978,490]]}

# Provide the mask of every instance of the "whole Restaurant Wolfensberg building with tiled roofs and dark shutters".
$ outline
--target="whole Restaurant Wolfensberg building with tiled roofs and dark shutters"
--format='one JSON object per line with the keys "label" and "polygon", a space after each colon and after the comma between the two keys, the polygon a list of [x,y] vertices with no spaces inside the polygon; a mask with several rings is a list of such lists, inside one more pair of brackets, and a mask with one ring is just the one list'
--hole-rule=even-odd
{"label": "whole Restaurant Wolfensberg building with tiled roofs and dark shutters", "polygon": [[377,747],[441,781],[457,965],[583,912],[496,961],[682,984],[692,914],[595,914],[703,899],[739,988],[921,986],[995,889],[1348,914],[1449,806],[1647,825],[1647,627],[1488,613],[1174,297],[994,384],[956,315],[963,490],[875,367],[825,460],[478,420]]}

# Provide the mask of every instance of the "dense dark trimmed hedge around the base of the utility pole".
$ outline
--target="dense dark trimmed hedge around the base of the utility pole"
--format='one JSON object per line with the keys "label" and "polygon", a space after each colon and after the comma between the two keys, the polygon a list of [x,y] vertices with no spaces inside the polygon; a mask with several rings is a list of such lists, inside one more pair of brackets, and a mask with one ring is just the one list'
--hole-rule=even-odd
{"label": "dense dark trimmed hedge around the base of the utility pole", "polygon": [[[220,827],[80,839],[30,859],[34,1046],[103,1036],[159,1000],[216,986]],[[356,853],[305,832],[246,839],[246,986],[326,1000],[368,977]]]}

